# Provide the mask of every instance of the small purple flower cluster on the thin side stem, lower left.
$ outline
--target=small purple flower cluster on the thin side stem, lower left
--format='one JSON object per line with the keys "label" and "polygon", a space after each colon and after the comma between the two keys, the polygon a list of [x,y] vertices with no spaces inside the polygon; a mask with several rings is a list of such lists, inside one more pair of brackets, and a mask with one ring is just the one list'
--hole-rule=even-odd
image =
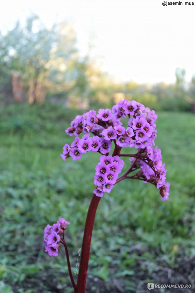
{"label": "small purple flower cluster on the thin side stem, lower left", "polygon": [[45,244],[45,252],[47,252],[50,256],[58,255],[58,247],[61,242],[61,238],[59,234],[64,234],[64,230],[66,229],[66,225],[70,224],[64,218],[60,218],[56,224],[50,226],[49,224],[44,229],[44,244]]}

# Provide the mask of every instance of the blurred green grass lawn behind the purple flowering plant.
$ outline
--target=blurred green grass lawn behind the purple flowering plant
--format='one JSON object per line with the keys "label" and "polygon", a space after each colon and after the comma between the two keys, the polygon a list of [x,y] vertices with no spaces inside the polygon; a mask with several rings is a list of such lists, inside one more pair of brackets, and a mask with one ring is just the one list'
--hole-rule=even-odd
{"label": "blurred green grass lawn behind the purple flowering plant", "polygon": [[[62,247],[58,258],[50,258],[42,245],[44,227],[60,217],[71,223],[66,231],[74,270],[99,161],[99,154],[92,152],[79,161],[64,163],[60,157],[63,145],[73,140],[64,129],[78,114],[56,105],[1,109],[0,276],[5,270],[2,278],[10,285],[44,274],[49,267],[68,271]],[[91,275],[131,275],[139,258],[155,262],[156,255],[174,268],[181,253],[195,255],[194,115],[157,114],[156,145],[168,169],[170,200],[162,202],[153,185],[137,180],[122,181],[105,194],[94,225]],[[124,161],[127,165],[128,159]],[[144,247],[143,253],[130,258],[134,245]]]}

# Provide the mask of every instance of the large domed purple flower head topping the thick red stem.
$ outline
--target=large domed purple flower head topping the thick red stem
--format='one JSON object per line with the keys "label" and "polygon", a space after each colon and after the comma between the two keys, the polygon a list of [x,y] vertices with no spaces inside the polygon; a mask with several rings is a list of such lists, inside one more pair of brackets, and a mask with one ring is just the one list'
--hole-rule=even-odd
{"label": "large domed purple flower head topping the thick red stem", "polygon": [[[121,117],[125,118],[126,115],[128,116],[128,125],[125,128],[122,126],[120,119]],[[153,149],[157,133],[156,119],[157,115],[154,110],[150,110],[134,100],[128,101],[126,99],[114,105],[112,111],[110,109],[99,109],[96,114],[96,111],[90,110],[83,115],[77,115],[71,122],[71,127],[65,130],[70,136],[74,134],[75,140],[70,146],[64,145],[61,157],[64,161],[68,157],[78,160],[82,154],[88,151],[99,152],[102,156],[100,157],[100,163],[96,166],[94,183],[97,188],[94,193],[97,196],[103,196],[103,192],[111,191],[118,178],[118,173],[121,172],[124,165],[123,161],[120,160],[122,147],[135,147],[137,154],[134,155],[132,163],[136,159],[137,168],[139,166],[141,169],[137,172],[136,177],[143,178],[144,181],[156,185],[160,190],[161,199],[167,200],[170,184],[165,182],[165,164],[161,161],[161,150],[157,147]],[[82,132],[84,132],[82,138],[78,137]],[[94,136],[90,137],[89,132]],[[113,159],[115,156],[109,155],[112,142],[114,142],[115,149],[118,151],[117,157],[120,163],[115,162]],[[109,157],[109,164],[102,161],[104,157]],[[114,165],[110,166],[110,164]],[[109,169],[109,167],[115,168],[115,171]],[[105,172],[102,173],[102,170]],[[108,179],[108,175],[111,179]]]}

